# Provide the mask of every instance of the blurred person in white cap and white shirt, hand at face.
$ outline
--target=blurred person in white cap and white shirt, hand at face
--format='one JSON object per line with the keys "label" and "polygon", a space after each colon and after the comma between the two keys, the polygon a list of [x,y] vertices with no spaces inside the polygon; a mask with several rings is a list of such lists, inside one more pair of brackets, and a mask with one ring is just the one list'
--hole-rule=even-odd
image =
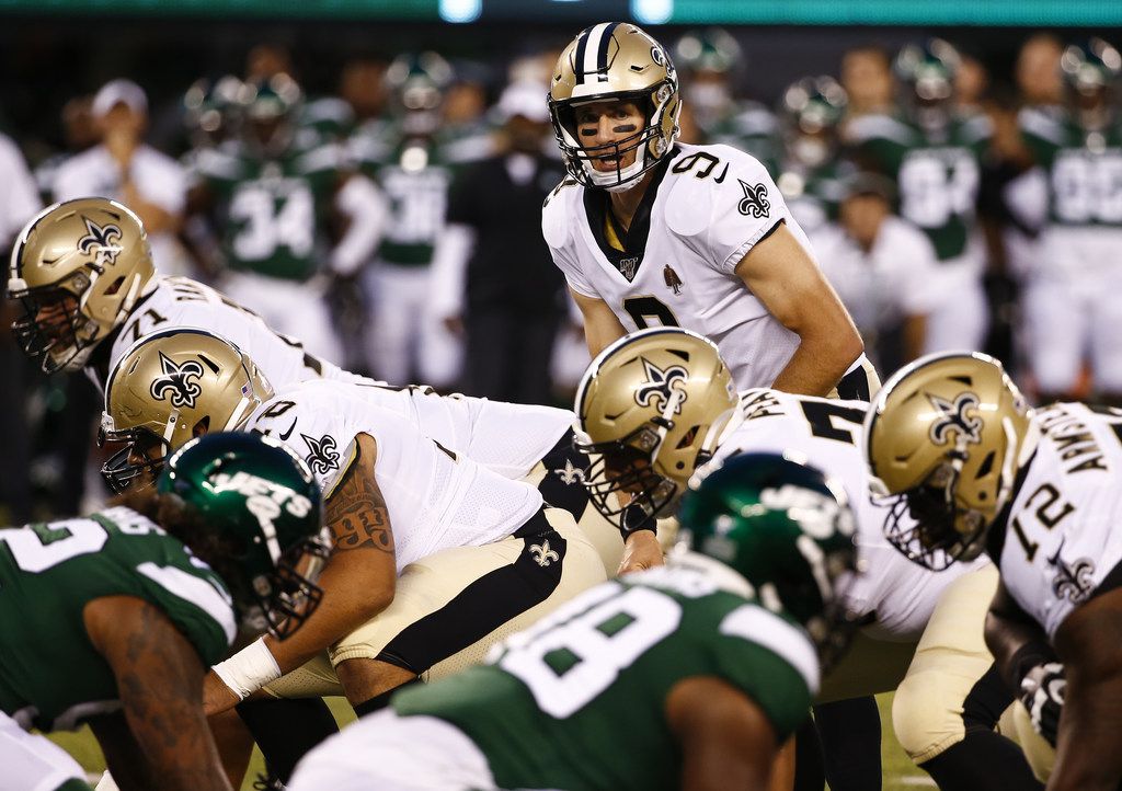
{"label": "blurred person in white cap and white shirt, hand at face", "polygon": [[171,157],[144,141],[148,100],[128,80],[105,83],[91,108],[101,142],[58,166],[54,199],[102,195],[120,201],[144,221],[160,272],[186,274],[176,240],[186,201],[186,177]]}

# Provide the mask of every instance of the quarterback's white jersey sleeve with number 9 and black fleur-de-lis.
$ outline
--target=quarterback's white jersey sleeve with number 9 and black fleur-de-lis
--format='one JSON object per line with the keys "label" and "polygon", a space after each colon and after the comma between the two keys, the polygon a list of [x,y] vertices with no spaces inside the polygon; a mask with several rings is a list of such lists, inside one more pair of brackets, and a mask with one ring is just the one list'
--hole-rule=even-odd
{"label": "quarterback's white jersey sleeve with number 9 and black fleur-de-lis", "polygon": [[[692,164],[691,158],[696,158]],[[788,214],[783,195],[763,164],[729,146],[687,153],[674,162],[672,172],[675,180],[665,208],[666,224],[718,272],[733,273]]]}

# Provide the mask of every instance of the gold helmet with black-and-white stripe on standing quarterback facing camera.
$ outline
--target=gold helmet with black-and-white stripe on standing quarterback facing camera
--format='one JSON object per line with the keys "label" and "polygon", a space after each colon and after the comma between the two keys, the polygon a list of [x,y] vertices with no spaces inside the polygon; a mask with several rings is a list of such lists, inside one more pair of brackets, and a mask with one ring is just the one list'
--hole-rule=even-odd
{"label": "gold helmet with black-and-white stripe on standing quarterback facing camera", "polygon": [[[577,135],[576,108],[606,100],[631,101],[646,126],[604,146],[586,148]],[[627,190],[659,164],[678,137],[681,99],[674,64],[662,45],[627,22],[600,22],[581,30],[561,53],[549,94],[550,117],[565,169],[585,186]],[[622,166],[628,151],[635,162]],[[598,172],[597,159],[614,160],[614,172]]]}

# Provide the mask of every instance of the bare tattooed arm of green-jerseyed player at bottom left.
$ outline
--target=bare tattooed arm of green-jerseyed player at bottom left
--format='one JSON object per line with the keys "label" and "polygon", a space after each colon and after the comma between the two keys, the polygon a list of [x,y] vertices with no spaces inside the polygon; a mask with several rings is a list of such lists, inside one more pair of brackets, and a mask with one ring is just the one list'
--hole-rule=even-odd
{"label": "bare tattooed arm of green-jerseyed player at bottom left", "polygon": [[122,714],[93,723],[123,791],[230,791],[202,708],[199,653],[158,608],[132,596],[85,606],[90,642],[117,679]]}

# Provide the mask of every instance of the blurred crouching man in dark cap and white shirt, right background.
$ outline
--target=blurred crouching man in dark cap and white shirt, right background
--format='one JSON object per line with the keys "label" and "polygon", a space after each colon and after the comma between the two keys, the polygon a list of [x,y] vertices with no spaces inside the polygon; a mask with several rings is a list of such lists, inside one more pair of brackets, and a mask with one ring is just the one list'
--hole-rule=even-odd
{"label": "blurred crouching man in dark cap and white shirt, right background", "polygon": [[892,213],[895,190],[886,177],[858,173],[843,183],[840,226],[812,237],[822,272],[837,291],[881,370],[923,353],[927,315],[947,298],[938,284],[927,236]]}

